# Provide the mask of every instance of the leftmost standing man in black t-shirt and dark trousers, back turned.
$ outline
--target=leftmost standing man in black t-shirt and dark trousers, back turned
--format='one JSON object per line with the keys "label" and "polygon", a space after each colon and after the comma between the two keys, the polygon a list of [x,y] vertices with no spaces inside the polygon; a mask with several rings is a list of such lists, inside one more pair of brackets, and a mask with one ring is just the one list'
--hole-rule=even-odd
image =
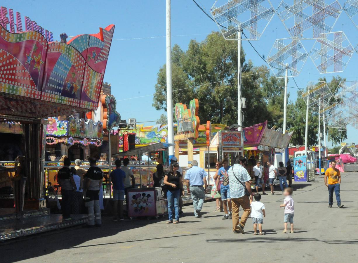
{"label": "leftmost standing man in black t-shirt and dark trousers, back turned", "polygon": [[70,165],[70,159],[64,159],[63,167],[57,173],[57,183],[61,186],[62,220],[71,220],[72,195],[73,191],[77,190],[73,174],[69,168]]}

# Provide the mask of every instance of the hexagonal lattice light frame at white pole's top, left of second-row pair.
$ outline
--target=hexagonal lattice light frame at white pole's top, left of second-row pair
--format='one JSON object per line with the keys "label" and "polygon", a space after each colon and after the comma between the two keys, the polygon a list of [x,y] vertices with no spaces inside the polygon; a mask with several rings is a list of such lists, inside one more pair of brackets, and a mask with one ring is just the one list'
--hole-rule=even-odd
{"label": "hexagonal lattice light frame at white pole's top, left of second-row pair", "polygon": [[288,77],[295,77],[300,74],[307,57],[308,53],[300,40],[281,38],[276,39],[274,46],[272,46],[266,58],[266,62],[276,78],[284,78],[286,68],[289,70]]}

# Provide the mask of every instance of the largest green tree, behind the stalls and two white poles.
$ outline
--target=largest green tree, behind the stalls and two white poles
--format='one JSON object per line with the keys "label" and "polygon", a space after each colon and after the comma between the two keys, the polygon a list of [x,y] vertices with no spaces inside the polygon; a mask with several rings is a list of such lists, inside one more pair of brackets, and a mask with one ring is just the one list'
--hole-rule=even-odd
{"label": "largest green tree, behind the stalls and two white poles", "polygon": [[[247,99],[244,126],[263,120],[278,124],[282,118],[284,81],[269,74],[266,66],[255,67],[241,50],[242,96]],[[217,32],[203,42],[191,40],[186,52],[178,45],[172,51],[173,106],[199,100],[201,123],[237,124],[237,42]],[[153,106],[166,110],[166,67],[159,69]]]}

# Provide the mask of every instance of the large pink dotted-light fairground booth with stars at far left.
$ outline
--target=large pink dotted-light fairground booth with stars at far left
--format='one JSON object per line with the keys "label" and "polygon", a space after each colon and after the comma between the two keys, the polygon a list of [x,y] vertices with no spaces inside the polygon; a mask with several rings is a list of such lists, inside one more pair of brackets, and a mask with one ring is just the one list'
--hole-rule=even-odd
{"label": "large pink dotted-light fairground booth with stars at far left", "polygon": [[77,216],[65,223],[45,208],[45,119],[97,109],[114,28],[109,25],[66,43],[66,38],[48,42],[35,31],[10,33],[0,27],[0,120],[22,124],[24,153],[11,178],[12,202],[0,198],[0,239],[87,221]]}

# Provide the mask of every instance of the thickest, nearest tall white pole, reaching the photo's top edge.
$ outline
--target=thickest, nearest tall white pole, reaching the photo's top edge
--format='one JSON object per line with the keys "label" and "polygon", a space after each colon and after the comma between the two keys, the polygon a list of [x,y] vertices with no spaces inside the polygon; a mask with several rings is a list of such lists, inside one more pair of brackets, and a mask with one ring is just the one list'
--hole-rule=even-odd
{"label": "thickest, nearest tall white pole, reaching the photo's top edge", "polygon": [[[168,116],[168,143],[174,144],[173,98],[171,94],[170,0],[166,0],[166,114]],[[170,146],[169,158],[173,156],[174,146]]]}

